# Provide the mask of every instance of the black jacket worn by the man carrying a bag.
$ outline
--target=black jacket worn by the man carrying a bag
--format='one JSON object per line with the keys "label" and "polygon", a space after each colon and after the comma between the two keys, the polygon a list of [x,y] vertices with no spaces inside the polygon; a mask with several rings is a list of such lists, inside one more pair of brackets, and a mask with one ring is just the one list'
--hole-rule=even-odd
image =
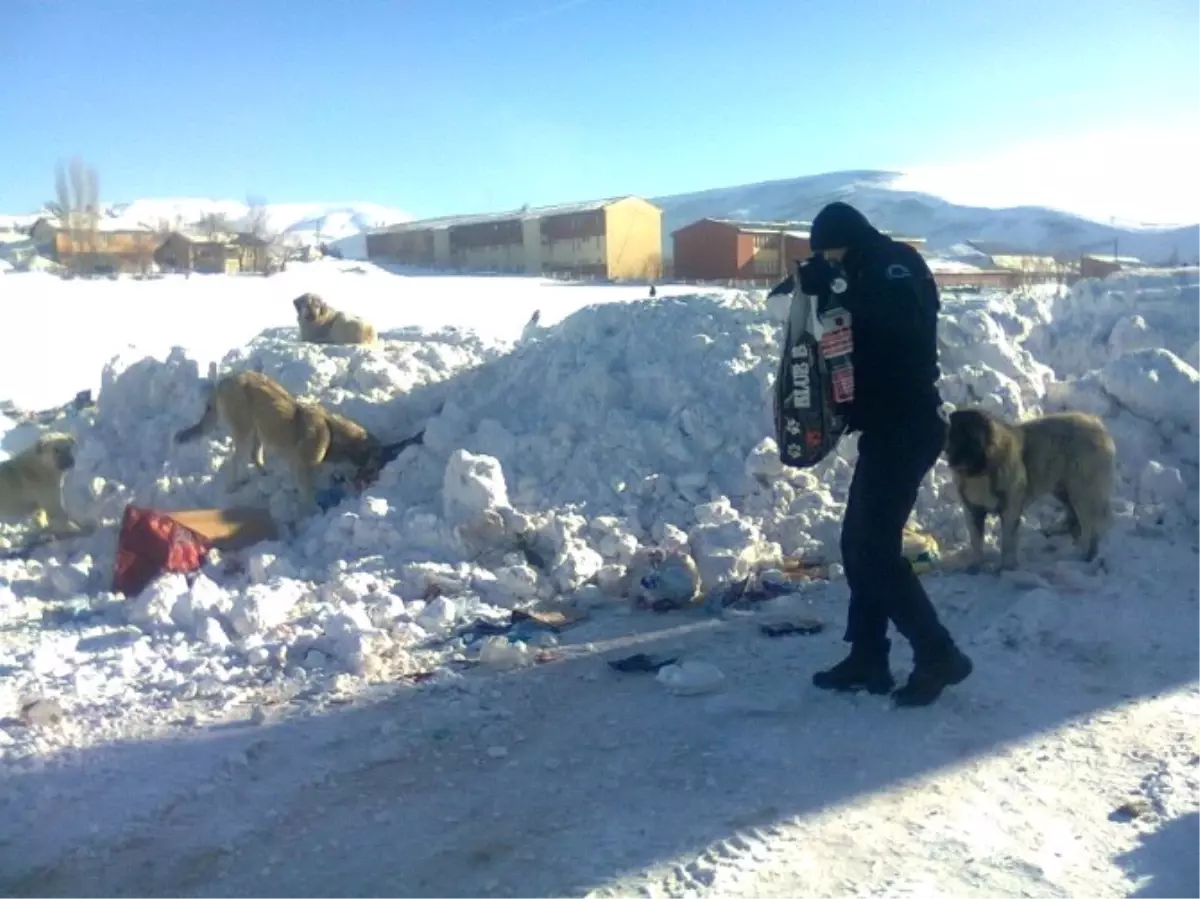
{"label": "black jacket worn by the man carrying a bag", "polygon": [[[936,412],[937,312],[934,275],[920,253],[880,234],[842,259],[847,289],[836,301],[852,317],[854,402],[848,430],[904,426]],[[791,293],[788,277],[772,294]]]}

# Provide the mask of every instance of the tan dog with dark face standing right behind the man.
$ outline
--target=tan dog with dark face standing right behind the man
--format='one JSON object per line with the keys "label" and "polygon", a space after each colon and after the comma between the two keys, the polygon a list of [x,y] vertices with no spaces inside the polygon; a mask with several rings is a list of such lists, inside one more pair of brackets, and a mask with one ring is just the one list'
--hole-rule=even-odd
{"label": "tan dog with dark face standing right behind the man", "polygon": [[946,459],[962,501],[971,537],[971,567],[983,559],[989,513],[1001,522],[1001,568],[1018,563],[1021,515],[1052,496],[1067,510],[1061,526],[1091,562],[1111,521],[1116,445],[1104,422],[1081,412],[1010,425],[983,409],[950,413]]}

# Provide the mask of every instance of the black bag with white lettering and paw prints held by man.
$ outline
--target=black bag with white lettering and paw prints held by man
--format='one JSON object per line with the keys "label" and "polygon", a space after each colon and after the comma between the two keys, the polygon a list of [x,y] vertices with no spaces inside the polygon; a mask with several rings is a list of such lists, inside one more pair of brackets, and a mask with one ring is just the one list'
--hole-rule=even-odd
{"label": "black bag with white lettering and paw prints held by man", "polygon": [[846,431],[854,396],[853,342],[850,313],[836,305],[836,294],[803,293],[799,265],[775,378],[775,442],[784,465],[811,468]]}

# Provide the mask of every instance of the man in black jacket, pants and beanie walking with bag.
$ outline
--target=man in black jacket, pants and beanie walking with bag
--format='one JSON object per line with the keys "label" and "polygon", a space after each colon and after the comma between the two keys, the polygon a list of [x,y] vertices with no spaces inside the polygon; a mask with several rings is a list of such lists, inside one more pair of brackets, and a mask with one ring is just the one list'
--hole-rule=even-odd
{"label": "man in black jacket, pants and beanie walking with bag", "polygon": [[[814,257],[800,266],[804,293],[828,294],[845,272],[838,299],[851,314],[854,340],[847,431],[860,432],[841,529],[851,649],[812,683],[892,693],[899,706],[926,706],[972,670],[904,555],[904,526],[947,432],[937,390],[937,284],[920,253],[881,234],[845,203],[817,214],[811,246]],[[889,619],[913,648],[912,675],[894,693]]]}

